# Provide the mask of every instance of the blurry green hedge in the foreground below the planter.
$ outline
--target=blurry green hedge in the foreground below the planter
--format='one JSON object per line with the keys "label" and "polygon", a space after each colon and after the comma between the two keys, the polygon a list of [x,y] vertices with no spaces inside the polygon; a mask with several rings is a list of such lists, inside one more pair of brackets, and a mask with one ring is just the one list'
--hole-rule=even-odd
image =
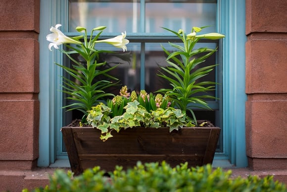
{"label": "blurry green hedge in the foreground below the planter", "polygon": [[232,171],[211,165],[190,168],[185,163],[173,168],[165,162],[138,162],[126,171],[116,166],[109,174],[110,178],[104,177],[104,171],[95,167],[72,178],[71,172],[57,170],[48,186],[34,192],[287,192],[272,176],[232,178]]}

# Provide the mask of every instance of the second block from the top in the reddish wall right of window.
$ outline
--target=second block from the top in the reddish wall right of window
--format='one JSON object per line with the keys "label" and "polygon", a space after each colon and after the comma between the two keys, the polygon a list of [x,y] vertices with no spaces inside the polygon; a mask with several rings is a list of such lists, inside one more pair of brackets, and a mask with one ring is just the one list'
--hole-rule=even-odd
{"label": "second block from the top in the reddish wall right of window", "polygon": [[287,38],[283,37],[255,36],[247,41],[246,93],[287,93]]}

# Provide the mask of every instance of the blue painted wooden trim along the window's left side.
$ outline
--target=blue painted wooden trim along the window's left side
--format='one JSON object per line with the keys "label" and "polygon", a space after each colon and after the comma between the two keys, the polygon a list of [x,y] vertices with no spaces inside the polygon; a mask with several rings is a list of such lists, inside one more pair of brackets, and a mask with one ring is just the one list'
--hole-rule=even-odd
{"label": "blue painted wooden trim along the window's left side", "polygon": [[[51,26],[61,23],[65,26],[65,11],[62,11],[67,1],[41,0],[40,2],[40,127],[39,127],[39,167],[47,167],[56,159],[58,143],[61,142],[62,127],[62,94],[60,85],[62,69],[54,62],[62,61],[62,54],[48,50],[46,36]],[[65,29],[63,29],[65,30]]]}

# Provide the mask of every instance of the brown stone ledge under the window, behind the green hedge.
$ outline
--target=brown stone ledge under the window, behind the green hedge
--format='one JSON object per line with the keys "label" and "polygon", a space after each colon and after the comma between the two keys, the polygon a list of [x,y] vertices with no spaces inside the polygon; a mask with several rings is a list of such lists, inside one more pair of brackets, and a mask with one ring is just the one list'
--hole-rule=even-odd
{"label": "brown stone ledge under the window, behind the green hedge", "polygon": [[[10,191],[19,192],[24,188],[33,190],[36,187],[48,185],[48,176],[52,175],[57,168],[37,168],[33,171],[0,171],[0,192]],[[69,168],[63,168],[68,171]],[[232,170],[232,178],[241,176],[246,178],[248,175],[257,175],[261,178],[271,175],[274,180],[287,185],[287,170],[268,170],[252,171],[248,168],[224,168]]]}

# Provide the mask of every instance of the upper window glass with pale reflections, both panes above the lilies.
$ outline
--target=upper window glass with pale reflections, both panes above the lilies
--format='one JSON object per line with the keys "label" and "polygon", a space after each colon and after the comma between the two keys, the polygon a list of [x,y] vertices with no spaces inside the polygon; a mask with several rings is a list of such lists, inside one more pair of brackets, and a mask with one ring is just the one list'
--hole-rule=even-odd
{"label": "upper window glass with pale reflections, both panes above the lilies", "polygon": [[86,27],[88,31],[106,26],[104,32],[109,33],[161,33],[166,32],[161,27],[190,31],[193,26],[206,25],[211,27],[205,32],[216,31],[216,2],[149,0],[144,8],[140,5],[139,0],[70,0],[69,32],[75,32],[77,26]]}

